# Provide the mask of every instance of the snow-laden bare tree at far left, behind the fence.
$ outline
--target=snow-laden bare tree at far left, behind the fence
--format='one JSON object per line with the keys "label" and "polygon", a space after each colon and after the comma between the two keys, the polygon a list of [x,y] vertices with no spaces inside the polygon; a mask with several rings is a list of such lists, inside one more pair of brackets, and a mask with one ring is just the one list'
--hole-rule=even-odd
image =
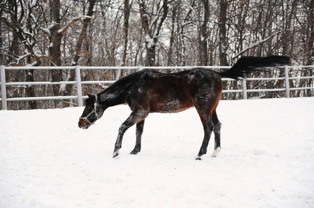
{"label": "snow-laden bare tree at far left, behind the fence", "polygon": [[[35,53],[35,47],[38,44],[36,34],[40,31],[40,21],[38,21],[38,14],[34,12],[38,8],[38,1],[8,1],[8,10],[10,11],[10,21],[5,17],[1,17],[8,28],[13,32],[13,42],[10,47],[12,55],[10,55],[9,64],[20,64],[22,60],[25,60],[25,64],[31,66],[39,66],[41,64],[41,55]],[[19,12],[20,10],[20,12]],[[23,55],[19,53],[19,46],[17,44],[22,43],[25,50]],[[27,69],[25,71],[26,82],[34,81],[33,69]],[[26,96],[35,96],[34,87],[26,86]],[[37,108],[36,101],[29,101],[29,107],[31,109]]]}

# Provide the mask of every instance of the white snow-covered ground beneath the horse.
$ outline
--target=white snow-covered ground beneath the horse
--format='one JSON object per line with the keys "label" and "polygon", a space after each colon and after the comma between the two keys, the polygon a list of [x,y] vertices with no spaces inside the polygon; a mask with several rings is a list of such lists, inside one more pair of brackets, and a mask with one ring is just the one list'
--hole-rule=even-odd
{"label": "white snow-covered ground beneath the horse", "polygon": [[[109,108],[88,130],[82,107],[0,111],[0,207],[314,207],[314,98],[221,101],[221,153],[194,160],[194,108],[150,114],[112,159],[130,113]],[[213,135],[212,135],[213,136]]]}

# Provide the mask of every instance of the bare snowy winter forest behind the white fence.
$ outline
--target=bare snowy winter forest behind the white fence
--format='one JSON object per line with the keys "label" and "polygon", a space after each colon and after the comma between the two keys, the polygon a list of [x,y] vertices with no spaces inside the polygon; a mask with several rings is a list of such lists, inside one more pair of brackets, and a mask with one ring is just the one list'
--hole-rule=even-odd
{"label": "bare snowy winter forest behind the white fence", "polygon": [[[314,64],[314,0],[4,0],[0,12],[0,65],[6,66],[230,66],[244,55],[288,55],[292,65]],[[84,70],[81,79],[116,79],[127,73],[131,71]],[[290,73],[313,76],[313,67]],[[282,77],[283,69],[252,76]],[[71,81],[74,70],[6,71],[7,82],[34,80]],[[240,84],[229,82],[225,87],[236,89]],[[283,83],[265,85],[276,88]],[[298,85],[313,86],[313,79]],[[101,92],[106,86],[93,87],[86,91]],[[8,97],[74,91],[74,85],[15,86],[8,87]],[[51,102],[49,107],[61,104]],[[33,109],[48,104],[10,105]]]}

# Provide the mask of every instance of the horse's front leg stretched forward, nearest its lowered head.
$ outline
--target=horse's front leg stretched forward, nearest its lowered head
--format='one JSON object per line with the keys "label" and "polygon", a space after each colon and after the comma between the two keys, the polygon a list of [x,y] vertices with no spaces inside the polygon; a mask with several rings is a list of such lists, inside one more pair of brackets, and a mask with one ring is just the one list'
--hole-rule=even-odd
{"label": "horse's front leg stretched forward, nearest its lowered head", "polygon": [[116,140],[116,144],[114,146],[113,150],[113,157],[117,157],[120,154],[120,148],[122,147],[122,139],[125,131],[130,128],[135,123],[138,123],[139,121],[145,119],[148,116],[148,112],[145,110],[141,111],[133,111],[129,118],[125,122],[123,122],[122,125],[120,125],[119,132],[118,132],[118,138]]}

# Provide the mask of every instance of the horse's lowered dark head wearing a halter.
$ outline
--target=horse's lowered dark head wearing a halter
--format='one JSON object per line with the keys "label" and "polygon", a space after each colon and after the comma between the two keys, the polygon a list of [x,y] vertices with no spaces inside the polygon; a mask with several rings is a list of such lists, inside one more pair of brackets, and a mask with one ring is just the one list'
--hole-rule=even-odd
{"label": "horse's lowered dark head wearing a halter", "polygon": [[93,125],[97,119],[100,119],[104,113],[103,107],[97,102],[97,95],[87,94],[88,98],[85,100],[85,109],[79,118],[79,128],[88,129]]}

